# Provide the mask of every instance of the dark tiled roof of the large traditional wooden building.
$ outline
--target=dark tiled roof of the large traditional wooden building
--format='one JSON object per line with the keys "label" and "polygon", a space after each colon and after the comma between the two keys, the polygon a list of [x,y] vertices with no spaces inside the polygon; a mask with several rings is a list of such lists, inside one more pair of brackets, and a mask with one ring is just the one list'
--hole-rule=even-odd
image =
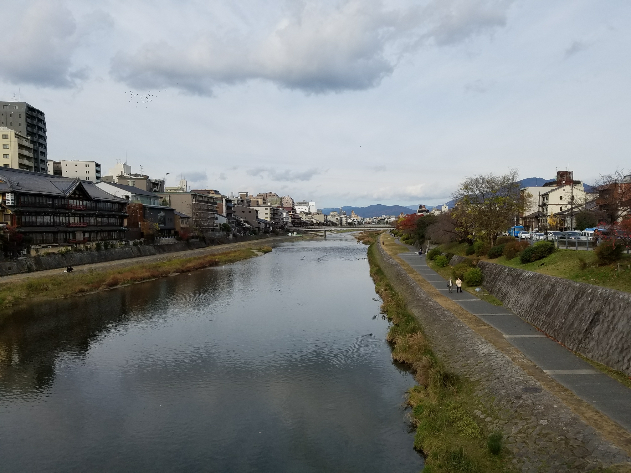
{"label": "dark tiled roof of the large traditional wooden building", "polygon": [[105,190],[99,189],[90,181],[44,174],[21,169],[0,168],[0,192],[22,192],[25,194],[42,194],[44,196],[67,197],[77,187],[96,201],[126,202],[114,197]]}

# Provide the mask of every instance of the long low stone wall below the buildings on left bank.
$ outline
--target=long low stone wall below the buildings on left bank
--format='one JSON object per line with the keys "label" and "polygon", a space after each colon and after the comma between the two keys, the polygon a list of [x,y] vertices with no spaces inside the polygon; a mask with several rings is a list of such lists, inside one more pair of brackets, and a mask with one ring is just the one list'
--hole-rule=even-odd
{"label": "long low stone wall below the buildings on left bank", "polygon": [[[238,237],[232,238],[232,240],[228,238],[220,238],[214,243],[237,243],[260,239],[261,237]],[[81,264],[136,258],[139,256],[160,255],[184,250],[196,250],[198,248],[208,246],[210,245],[208,243],[204,243],[203,241],[177,242],[169,243],[167,245],[141,245],[138,247],[116,248],[113,250],[69,252],[63,255],[52,254],[46,256],[4,260],[0,262],[0,276],[20,274],[22,272],[42,271],[44,269],[56,269],[67,266],[80,266]]]}

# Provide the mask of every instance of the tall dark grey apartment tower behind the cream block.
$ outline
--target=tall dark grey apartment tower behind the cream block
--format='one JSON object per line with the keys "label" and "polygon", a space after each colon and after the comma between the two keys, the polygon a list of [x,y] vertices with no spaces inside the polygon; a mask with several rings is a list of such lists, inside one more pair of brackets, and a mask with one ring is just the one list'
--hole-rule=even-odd
{"label": "tall dark grey apartment tower behind the cream block", "polygon": [[42,110],[26,102],[0,102],[0,127],[7,127],[30,139],[33,145],[33,169],[29,171],[48,172],[46,119]]}

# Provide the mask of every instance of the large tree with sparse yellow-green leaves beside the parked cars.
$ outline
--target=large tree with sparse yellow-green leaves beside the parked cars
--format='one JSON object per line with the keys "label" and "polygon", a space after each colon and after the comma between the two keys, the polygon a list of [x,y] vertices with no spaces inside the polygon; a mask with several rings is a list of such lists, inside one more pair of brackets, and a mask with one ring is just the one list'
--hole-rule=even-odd
{"label": "large tree with sparse yellow-green leaves beside the parked cars", "polygon": [[461,228],[467,228],[476,238],[493,246],[497,236],[532,199],[529,194],[520,196],[518,178],[516,169],[504,175],[489,173],[465,178],[453,194],[459,207],[454,217],[462,224]]}

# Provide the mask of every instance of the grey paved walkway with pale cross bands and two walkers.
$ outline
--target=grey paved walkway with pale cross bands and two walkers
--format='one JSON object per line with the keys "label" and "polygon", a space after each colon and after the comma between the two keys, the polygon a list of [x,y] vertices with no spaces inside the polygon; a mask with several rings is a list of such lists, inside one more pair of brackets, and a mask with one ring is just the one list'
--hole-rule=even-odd
{"label": "grey paved walkway with pale cross bands and two walkers", "polygon": [[398,256],[442,295],[498,330],[550,377],[631,432],[631,389],[594,369],[507,308],[492,305],[466,291],[456,293],[455,282],[453,292],[449,293],[445,279],[427,265],[425,255],[419,257],[416,248],[404,246],[411,248],[410,251]]}

